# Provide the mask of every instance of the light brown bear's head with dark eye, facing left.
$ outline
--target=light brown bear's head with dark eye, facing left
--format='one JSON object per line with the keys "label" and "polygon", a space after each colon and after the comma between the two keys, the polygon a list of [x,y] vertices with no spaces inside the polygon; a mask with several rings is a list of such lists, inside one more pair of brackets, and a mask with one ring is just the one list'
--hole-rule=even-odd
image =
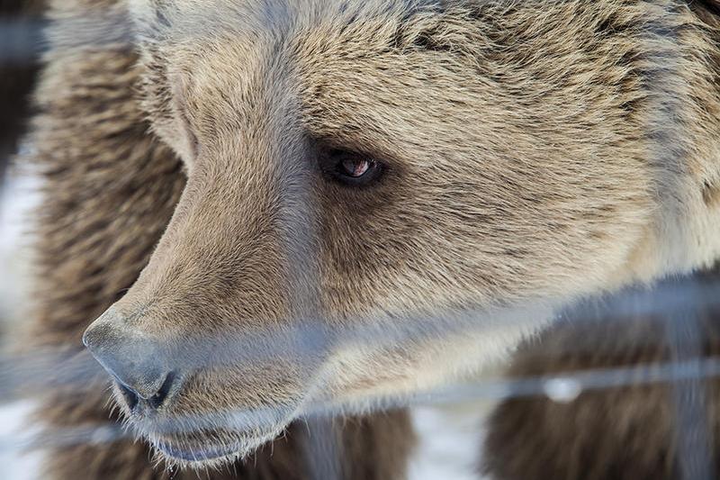
{"label": "light brown bear's head with dark eye, facing left", "polygon": [[658,240],[628,58],[659,41],[608,27],[651,22],[640,6],[130,4],[143,106],[187,185],[84,340],[167,458],[229,461],[318,405],[450,381],[559,301],[704,261]]}

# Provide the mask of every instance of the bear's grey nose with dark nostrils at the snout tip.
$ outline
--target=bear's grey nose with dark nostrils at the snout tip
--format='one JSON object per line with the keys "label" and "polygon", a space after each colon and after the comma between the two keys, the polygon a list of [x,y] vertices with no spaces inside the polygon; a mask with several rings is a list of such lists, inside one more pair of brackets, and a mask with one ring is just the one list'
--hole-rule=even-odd
{"label": "bear's grey nose with dark nostrils at the snout tip", "polygon": [[120,384],[131,411],[139,404],[157,409],[176,391],[175,373],[160,343],[132,328],[112,308],[85,330],[83,343]]}

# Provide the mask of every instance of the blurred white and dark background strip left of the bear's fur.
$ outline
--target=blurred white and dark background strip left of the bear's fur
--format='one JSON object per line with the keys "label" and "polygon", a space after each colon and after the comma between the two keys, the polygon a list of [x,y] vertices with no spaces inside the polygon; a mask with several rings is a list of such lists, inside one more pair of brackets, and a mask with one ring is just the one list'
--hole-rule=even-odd
{"label": "blurred white and dark background strip left of the bear's fur", "polygon": [[[42,2],[0,0],[0,477],[37,478],[39,457],[27,450],[32,403],[15,398],[14,331],[30,314],[31,214],[38,178],[12,158],[23,149],[31,90],[42,50]],[[12,166],[11,166],[12,164]]]}

